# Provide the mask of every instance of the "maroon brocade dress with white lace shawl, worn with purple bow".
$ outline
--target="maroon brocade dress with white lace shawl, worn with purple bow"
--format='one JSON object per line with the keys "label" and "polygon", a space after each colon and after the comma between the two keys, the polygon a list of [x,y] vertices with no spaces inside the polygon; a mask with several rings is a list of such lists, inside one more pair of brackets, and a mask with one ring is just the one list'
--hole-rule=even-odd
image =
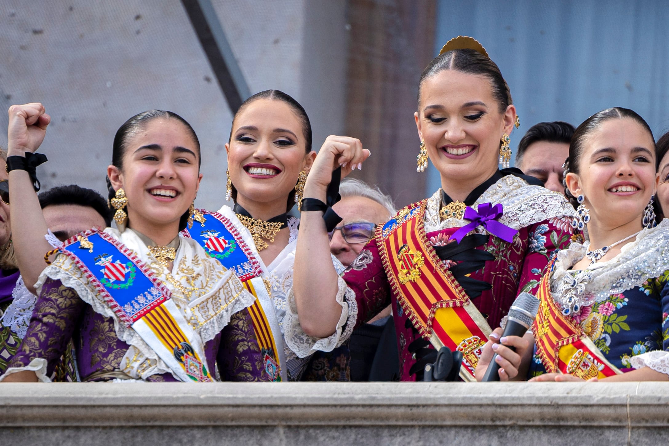
{"label": "maroon brocade dress with white lace shawl, worn with purple bow", "polygon": [[[429,336],[421,336],[412,322],[416,320],[416,314],[411,314],[415,310],[412,310],[407,297],[398,292],[396,284],[392,285],[393,272],[383,261],[384,237],[393,234],[395,227],[401,225],[407,215],[422,212],[415,218],[422,221],[429,241],[427,249],[436,251],[441,261],[439,266],[453,273],[490,328],[499,326],[520,292],[533,292],[549,259],[572,241],[569,220],[573,207],[562,195],[528,185],[514,172],[498,172],[472,191],[464,202],[474,209],[480,203],[501,203],[504,213],[498,221],[518,231],[512,243],[490,235],[480,226],[470,231],[460,243],[455,241],[452,238],[454,233],[470,222],[461,218],[440,217],[442,205],[451,202],[446,194],[442,197],[440,190],[429,199],[400,211],[398,216],[379,228],[376,237],[343,275],[356,294],[358,326],[392,304],[400,380],[422,380],[425,364],[434,362],[436,356]],[[421,211],[423,205],[424,212]],[[434,257],[434,254],[423,253],[423,256]],[[408,265],[407,270],[411,267]],[[424,277],[417,277],[415,284],[429,290],[429,286],[421,280]],[[436,296],[437,301],[443,298]]]}

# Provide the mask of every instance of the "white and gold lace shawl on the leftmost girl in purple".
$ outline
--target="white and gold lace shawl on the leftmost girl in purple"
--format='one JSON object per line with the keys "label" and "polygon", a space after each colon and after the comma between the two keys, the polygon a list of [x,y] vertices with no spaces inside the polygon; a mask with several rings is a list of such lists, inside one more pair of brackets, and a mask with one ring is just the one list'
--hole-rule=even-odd
{"label": "white and gold lace shawl on the leftmost girl in purple", "polygon": [[[132,229],[126,229],[120,233],[116,229],[106,228],[104,232],[123,243],[151,267],[158,279],[169,289],[173,302],[183,312],[185,320],[201,336],[203,343],[213,339],[228,324],[232,314],[244,310],[254,302],[254,297],[246,292],[240,280],[231,271],[227,271],[219,261],[210,259],[204,249],[192,239],[181,238],[172,269],[171,277],[175,282],[181,284],[180,289],[169,282],[167,269],[156,261],[147,245]],[[93,310],[114,320],[116,336],[130,345],[122,362],[126,358],[133,358],[133,362],[141,364],[133,368],[141,370],[140,376],[131,374],[132,378],[145,379],[153,374],[171,373],[165,362],[142,340],[139,334],[118,320],[118,316],[90,284],[84,272],[69,257],[58,255],[54,263],[42,271],[35,284],[38,294],[47,278],[60,280],[64,286],[73,288],[86,304],[92,306]],[[199,321],[199,323],[194,321]],[[125,364],[121,366],[124,368]],[[48,381],[45,376],[46,367],[46,360],[35,358],[26,367],[8,368],[3,376],[7,376],[9,372],[33,370],[40,380]]]}

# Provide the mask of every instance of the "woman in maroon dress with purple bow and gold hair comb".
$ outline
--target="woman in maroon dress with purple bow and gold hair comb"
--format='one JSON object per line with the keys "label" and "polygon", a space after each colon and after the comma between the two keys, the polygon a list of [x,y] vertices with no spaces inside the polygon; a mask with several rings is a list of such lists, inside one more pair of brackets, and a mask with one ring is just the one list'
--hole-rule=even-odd
{"label": "woman in maroon dress with purple bow and gold hair comb", "polygon": [[[425,364],[434,362],[436,350],[430,341],[435,337],[430,336],[429,328],[436,322],[430,310],[452,305],[444,302],[448,298],[444,290],[433,287],[428,291],[432,287],[427,277],[430,271],[420,270],[423,261],[436,259],[436,265],[443,268],[438,275],[454,277],[466,293],[464,300],[478,309],[480,315],[472,317],[486,334],[490,326],[498,326],[520,292],[531,292],[537,286],[551,256],[573,236],[569,225],[573,209],[561,195],[543,189],[536,179],[518,169],[498,169],[498,159],[506,164],[510,157],[508,134],[518,118],[504,78],[480,43],[470,37],[447,43],[423,71],[418,91],[418,111],[414,113],[421,138],[418,171],[425,169],[428,157],[432,159],[440,172],[442,189],[401,210],[380,228],[361,252],[363,261],[356,261],[343,275],[356,294],[357,324],[393,304],[401,380],[421,380]],[[369,156],[356,140],[324,148],[304,188],[304,197],[320,201],[325,201],[334,169],[343,164],[345,175]],[[486,206],[478,207],[485,203],[493,205],[490,215]],[[495,212],[499,210],[496,205],[503,207],[502,215]],[[328,336],[340,313],[332,298],[338,277],[327,264],[328,237],[321,215],[305,212],[303,206],[292,305],[304,331],[316,337]],[[423,252],[408,245],[397,246],[399,252],[387,251],[382,261],[387,237],[396,237],[398,228],[411,219],[419,222],[413,230],[418,237],[424,231]],[[467,229],[458,231],[465,226]],[[395,258],[396,266],[402,269],[399,277],[393,277],[389,265]],[[317,281],[313,271],[320,273]],[[418,308],[421,304],[412,303],[403,294],[402,284],[415,284],[422,290],[420,298],[437,302],[432,308]],[[421,311],[429,316],[421,320]],[[421,326],[425,336],[419,332]],[[449,332],[453,326],[442,328]],[[464,352],[470,366],[478,361],[477,345],[483,342],[484,338],[476,340],[472,352]],[[502,375],[504,380],[509,378]],[[466,378],[473,379],[471,374]]]}

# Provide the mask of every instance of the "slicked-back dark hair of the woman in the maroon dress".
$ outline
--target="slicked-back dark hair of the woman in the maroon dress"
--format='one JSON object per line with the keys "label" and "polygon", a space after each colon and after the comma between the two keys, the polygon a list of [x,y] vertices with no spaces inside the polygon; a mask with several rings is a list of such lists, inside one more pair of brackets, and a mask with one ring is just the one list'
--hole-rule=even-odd
{"label": "slicked-back dark hair of the woman in the maroon dress", "polygon": [[500,113],[504,113],[506,107],[513,104],[508,84],[506,84],[506,80],[504,80],[497,64],[492,62],[488,56],[476,51],[476,49],[452,49],[434,58],[420,75],[418,82],[418,112],[420,112],[423,82],[444,70],[479,74],[488,78],[492,86],[492,97],[497,101]]}

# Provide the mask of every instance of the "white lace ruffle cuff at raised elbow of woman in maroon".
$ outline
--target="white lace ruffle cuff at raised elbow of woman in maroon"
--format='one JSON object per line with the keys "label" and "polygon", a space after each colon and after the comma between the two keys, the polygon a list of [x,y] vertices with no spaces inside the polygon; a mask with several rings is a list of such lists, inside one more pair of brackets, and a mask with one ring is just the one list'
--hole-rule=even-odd
{"label": "white lace ruffle cuff at raised elbow of woman in maroon", "polygon": [[[334,333],[327,338],[314,338],[302,330],[297,314],[295,296],[292,290],[290,290],[286,316],[284,318],[284,339],[288,348],[298,357],[306,358],[306,356],[318,351],[331,352],[341,346],[351,336],[358,318],[358,304],[355,300],[355,292],[346,286],[346,282],[341,277],[337,280],[337,286],[339,289],[337,290],[336,300],[337,304],[341,305],[341,316],[339,316]],[[346,325],[345,329],[343,329],[344,325]]]}

